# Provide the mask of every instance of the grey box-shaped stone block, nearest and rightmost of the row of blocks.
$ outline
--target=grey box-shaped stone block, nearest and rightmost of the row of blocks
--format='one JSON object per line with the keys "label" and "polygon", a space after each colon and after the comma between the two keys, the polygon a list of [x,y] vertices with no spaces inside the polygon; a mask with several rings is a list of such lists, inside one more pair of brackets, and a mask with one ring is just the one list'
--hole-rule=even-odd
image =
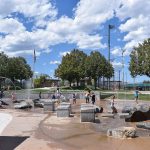
{"label": "grey box-shaped stone block, nearest and rightmost of the row of blocks", "polygon": [[91,104],[81,104],[81,122],[95,122],[95,108]]}

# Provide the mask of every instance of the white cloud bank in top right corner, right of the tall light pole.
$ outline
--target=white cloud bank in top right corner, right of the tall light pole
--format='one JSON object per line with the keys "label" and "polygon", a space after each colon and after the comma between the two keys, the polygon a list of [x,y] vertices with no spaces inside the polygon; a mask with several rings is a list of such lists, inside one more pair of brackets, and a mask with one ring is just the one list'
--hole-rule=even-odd
{"label": "white cloud bank in top right corner, right of the tall light pole", "polygon": [[150,1],[122,0],[122,7],[117,10],[117,16],[127,21],[119,27],[121,32],[127,32],[124,41],[125,49],[131,51],[133,46],[150,37]]}

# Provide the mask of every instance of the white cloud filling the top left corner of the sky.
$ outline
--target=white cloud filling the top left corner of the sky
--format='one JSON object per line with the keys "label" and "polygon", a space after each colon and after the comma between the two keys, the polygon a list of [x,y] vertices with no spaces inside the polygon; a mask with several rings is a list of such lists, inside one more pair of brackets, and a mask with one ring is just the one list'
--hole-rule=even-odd
{"label": "white cloud filling the top left corner of the sky", "polygon": [[[10,16],[18,12],[34,19],[38,25],[56,17],[57,9],[49,0],[0,0],[0,17]],[[44,25],[45,25],[44,23]]]}

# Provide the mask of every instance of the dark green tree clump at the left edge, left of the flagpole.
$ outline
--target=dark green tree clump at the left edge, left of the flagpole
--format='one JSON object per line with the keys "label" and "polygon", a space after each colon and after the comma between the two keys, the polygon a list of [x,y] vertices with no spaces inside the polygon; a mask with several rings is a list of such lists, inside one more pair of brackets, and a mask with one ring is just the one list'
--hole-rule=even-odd
{"label": "dark green tree clump at the left edge, left of the flagpole", "polygon": [[23,57],[8,57],[4,52],[0,53],[0,76],[15,80],[31,78],[33,72]]}

